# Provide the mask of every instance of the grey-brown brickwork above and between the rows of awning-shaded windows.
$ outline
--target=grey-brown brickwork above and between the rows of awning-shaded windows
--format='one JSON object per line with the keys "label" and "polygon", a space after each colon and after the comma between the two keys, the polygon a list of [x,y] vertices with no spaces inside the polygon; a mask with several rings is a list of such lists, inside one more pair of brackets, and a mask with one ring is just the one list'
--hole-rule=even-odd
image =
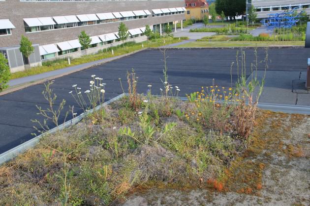
{"label": "grey-brown brickwork above and between the rows of awning-shaded windows", "polygon": [[[120,22],[78,26],[64,29],[25,33],[23,18],[51,17],[63,15],[91,14],[116,11],[132,11],[169,7],[183,7],[184,0],[134,0],[134,1],[60,1],[60,2],[21,2],[20,0],[0,1],[0,19],[9,19],[16,27],[12,35],[0,36],[0,47],[19,45],[21,35],[27,36],[33,44],[52,44],[77,39],[79,33],[85,30],[94,36],[116,32]],[[152,17],[124,21],[128,28],[143,27],[185,19],[185,14],[176,14],[162,17]]]}

